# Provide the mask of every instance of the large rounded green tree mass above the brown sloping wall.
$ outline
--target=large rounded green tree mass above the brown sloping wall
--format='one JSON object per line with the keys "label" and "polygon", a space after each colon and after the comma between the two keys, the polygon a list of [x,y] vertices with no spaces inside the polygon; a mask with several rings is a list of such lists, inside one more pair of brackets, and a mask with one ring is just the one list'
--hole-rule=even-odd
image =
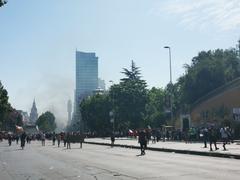
{"label": "large rounded green tree mass above the brown sloping wall", "polygon": [[235,49],[202,51],[185,65],[186,74],[178,79],[181,101],[192,104],[215,88],[240,76],[240,61]]}

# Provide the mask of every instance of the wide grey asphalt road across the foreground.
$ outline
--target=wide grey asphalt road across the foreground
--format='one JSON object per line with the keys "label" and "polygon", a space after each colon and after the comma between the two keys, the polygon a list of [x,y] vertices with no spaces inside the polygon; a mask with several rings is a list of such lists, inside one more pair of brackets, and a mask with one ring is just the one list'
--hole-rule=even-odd
{"label": "wide grey asphalt road across the foreground", "polygon": [[71,150],[0,142],[0,180],[239,180],[240,160],[83,144]]}

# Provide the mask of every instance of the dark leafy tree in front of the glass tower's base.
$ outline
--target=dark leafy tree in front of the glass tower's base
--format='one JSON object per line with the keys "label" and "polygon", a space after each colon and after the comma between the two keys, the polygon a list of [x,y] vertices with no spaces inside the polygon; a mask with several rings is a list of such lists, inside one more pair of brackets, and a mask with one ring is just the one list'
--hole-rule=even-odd
{"label": "dark leafy tree in front of the glass tower's base", "polygon": [[96,94],[84,99],[80,104],[84,128],[87,131],[105,135],[111,131],[109,112],[111,102],[106,94]]}

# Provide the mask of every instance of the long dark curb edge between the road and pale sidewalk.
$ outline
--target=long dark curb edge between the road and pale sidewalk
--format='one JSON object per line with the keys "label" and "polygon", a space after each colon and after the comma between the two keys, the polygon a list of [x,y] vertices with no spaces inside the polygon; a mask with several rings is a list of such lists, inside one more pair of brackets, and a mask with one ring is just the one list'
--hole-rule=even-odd
{"label": "long dark curb edge between the road and pale sidewalk", "polygon": [[[102,146],[111,146],[111,144],[109,144],[109,143],[87,142],[87,141],[85,141],[84,143],[94,144],[94,145],[102,145]],[[131,149],[140,149],[139,146],[134,146],[134,145],[114,144],[113,146],[122,147],[122,148],[131,148]],[[219,158],[240,159],[240,155],[237,155],[237,154],[223,154],[223,153],[216,153],[216,152],[201,152],[201,151],[167,149],[167,148],[153,148],[153,147],[147,147],[146,150],[169,152],[169,153],[178,153],[178,154],[199,155],[199,156],[210,156],[210,157],[219,157]]]}

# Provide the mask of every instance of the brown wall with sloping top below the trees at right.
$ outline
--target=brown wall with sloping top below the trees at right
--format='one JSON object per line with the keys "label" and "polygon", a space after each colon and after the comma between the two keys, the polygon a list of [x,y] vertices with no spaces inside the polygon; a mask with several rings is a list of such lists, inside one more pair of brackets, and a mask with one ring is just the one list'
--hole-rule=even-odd
{"label": "brown wall with sloping top below the trees at right", "polygon": [[[190,115],[192,126],[240,124],[240,78],[200,98],[192,105]],[[240,135],[239,130],[235,133]]]}

